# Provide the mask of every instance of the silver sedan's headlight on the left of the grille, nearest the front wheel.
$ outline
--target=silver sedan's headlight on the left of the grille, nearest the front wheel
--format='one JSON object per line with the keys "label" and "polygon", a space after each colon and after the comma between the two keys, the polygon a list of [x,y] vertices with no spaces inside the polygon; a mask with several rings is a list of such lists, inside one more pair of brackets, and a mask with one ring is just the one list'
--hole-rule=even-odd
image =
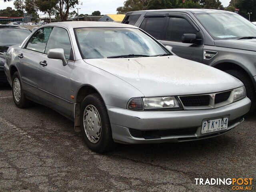
{"label": "silver sedan's headlight on the left of the grille, nearest the front wheel", "polygon": [[180,110],[182,105],[175,96],[132,98],[128,102],[131,110]]}

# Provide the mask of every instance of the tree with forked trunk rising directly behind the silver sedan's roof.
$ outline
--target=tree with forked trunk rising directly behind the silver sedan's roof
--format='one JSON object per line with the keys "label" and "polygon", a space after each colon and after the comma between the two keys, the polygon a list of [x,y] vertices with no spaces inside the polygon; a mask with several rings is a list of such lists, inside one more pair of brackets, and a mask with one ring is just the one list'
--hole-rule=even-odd
{"label": "tree with forked trunk rising directly behind the silver sedan's roof", "polygon": [[79,0],[58,0],[56,9],[60,13],[61,20],[66,21],[70,8],[75,8],[75,5],[78,4]]}

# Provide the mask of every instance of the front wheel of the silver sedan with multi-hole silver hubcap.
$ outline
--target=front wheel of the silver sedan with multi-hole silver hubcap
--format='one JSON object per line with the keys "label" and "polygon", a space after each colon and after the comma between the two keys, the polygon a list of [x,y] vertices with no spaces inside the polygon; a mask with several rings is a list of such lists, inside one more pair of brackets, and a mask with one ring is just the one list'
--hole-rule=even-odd
{"label": "front wheel of the silver sedan with multi-hole silver hubcap", "polygon": [[108,112],[98,94],[84,98],[80,106],[80,126],[84,141],[92,151],[104,153],[114,149]]}

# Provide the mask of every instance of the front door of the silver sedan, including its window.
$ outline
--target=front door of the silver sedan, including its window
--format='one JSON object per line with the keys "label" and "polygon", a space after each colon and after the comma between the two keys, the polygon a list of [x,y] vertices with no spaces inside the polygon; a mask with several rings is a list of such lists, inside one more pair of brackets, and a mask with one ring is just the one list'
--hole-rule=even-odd
{"label": "front door of the silver sedan, including its window", "polygon": [[[62,60],[47,57],[48,50],[63,48],[68,64],[63,66]],[[73,101],[70,98],[70,74],[74,65],[74,57],[70,38],[66,29],[54,27],[50,34],[45,49],[45,57],[38,67],[38,88],[42,98],[48,105],[58,110],[65,116],[70,116]]]}

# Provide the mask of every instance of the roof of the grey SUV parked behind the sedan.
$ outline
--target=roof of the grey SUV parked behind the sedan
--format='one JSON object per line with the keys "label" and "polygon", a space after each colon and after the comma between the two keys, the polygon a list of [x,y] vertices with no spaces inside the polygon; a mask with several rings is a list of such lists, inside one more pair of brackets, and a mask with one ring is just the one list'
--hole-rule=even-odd
{"label": "roof of the grey SUV parked behind the sedan", "polygon": [[135,14],[146,14],[149,12],[186,12],[192,14],[198,13],[230,13],[235,14],[234,12],[218,10],[218,9],[156,9],[156,10],[142,10],[142,11],[131,11],[126,15],[135,15]]}

